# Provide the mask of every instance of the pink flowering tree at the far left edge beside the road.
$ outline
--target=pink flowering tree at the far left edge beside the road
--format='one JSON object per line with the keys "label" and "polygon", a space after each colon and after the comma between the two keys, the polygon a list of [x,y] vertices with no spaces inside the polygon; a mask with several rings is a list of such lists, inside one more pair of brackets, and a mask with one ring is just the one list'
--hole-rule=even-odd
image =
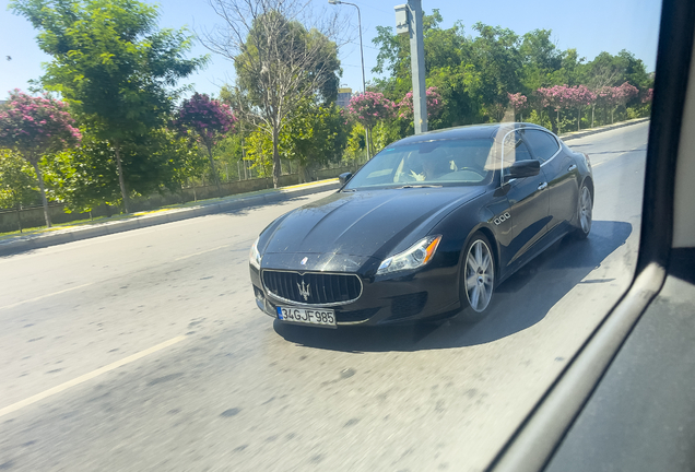
{"label": "pink flowering tree at the far left edge beside the road", "polygon": [[79,145],[81,139],[64,102],[47,95],[34,97],[15,88],[0,107],[0,148],[13,150],[34,167],[48,227],[48,200],[38,162],[46,154]]}

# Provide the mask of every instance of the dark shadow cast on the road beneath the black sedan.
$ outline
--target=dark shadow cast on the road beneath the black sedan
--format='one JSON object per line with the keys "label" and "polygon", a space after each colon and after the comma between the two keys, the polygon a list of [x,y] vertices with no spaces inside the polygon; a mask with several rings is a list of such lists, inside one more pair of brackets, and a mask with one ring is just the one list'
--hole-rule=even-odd
{"label": "dark shadow cast on the road beneath the black sedan", "polygon": [[[329,330],[275,320],[273,329],[299,345],[354,353],[452,349],[493,342],[541,321],[577,284],[614,281],[614,276],[587,279],[587,275],[624,245],[632,232],[629,223],[594,221],[588,239],[564,238],[555,243],[497,287],[492,310],[476,323],[453,317],[438,323]],[[586,308],[590,309],[589,302]]]}

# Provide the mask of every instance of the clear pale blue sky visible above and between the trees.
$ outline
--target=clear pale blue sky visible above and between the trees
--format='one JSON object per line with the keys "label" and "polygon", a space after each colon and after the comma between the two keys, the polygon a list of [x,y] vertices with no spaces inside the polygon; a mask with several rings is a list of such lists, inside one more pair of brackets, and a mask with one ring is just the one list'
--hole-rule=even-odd
{"label": "clear pale blue sky visible above and between the trees", "polygon": [[[367,82],[374,74],[370,69],[376,63],[377,49],[372,43],[376,26],[394,26],[393,7],[403,0],[353,0],[362,11],[365,70]],[[162,0],[160,4],[160,26],[178,28],[186,26],[191,32],[200,32],[221,24],[207,0]],[[27,88],[27,81],[42,74],[40,63],[49,60],[36,46],[36,32],[30,23],[7,10],[8,0],[0,0],[0,99],[7,92],[19,87]],[[357,30],[357,13],[354,7],[331,7],[326,1],[316,1],[316,8],[340,9],[350,24]],[[471,25],[481,21],[491,25],[508,27],[521,35],[532,30],[553,31],[553,40],[561,49],[576,48],[580,57],[593,59],[605,50],[616,54],[621,49],[632,51],[653,71],[656,64],[657,39],[661,4],[657,0],[526,0],[526,1],[457,1],[423,0],[423,9],[431,13],[439,9],[444,27],[456,21],[466,25],[467,34],[472,34]],[[356,33],[355,33],[356,35]],[[208,50],[197,45],[191,55],[203,55]],[[12,60],[7,60],[10,56]],[[362,88],[360,64],[360,43],[355,36],[352,44],[340,50],[343,68],[341,84],[353,91]],[[185,83],[204,93],[216,93],[220,85],[234,80],[232,63],[213,56],[212,63]]]}

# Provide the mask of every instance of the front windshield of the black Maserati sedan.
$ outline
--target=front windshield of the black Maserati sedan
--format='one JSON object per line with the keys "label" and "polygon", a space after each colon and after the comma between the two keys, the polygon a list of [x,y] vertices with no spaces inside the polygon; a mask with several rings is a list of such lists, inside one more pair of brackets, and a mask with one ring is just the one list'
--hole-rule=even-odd
{"label": "front windshield of the black Maserati sedan", "polygon": [[492,179],[492,139],[424,141],[387,148],[345,187],[485,185]]}

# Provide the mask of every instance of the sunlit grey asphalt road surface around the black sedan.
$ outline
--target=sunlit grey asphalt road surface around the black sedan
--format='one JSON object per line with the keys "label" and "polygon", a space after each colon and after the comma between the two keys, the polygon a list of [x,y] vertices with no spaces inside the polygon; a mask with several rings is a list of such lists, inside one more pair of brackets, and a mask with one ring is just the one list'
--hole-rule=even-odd
{"label": "sunlit grey asphalt road surface around the black sedan", "polygon": [[632,280],[647,134],[568,142],[594,168],[590,237],[474,326],[261,314],[248,248],[322,194],[0,258],[0,470],[483,469]]}

